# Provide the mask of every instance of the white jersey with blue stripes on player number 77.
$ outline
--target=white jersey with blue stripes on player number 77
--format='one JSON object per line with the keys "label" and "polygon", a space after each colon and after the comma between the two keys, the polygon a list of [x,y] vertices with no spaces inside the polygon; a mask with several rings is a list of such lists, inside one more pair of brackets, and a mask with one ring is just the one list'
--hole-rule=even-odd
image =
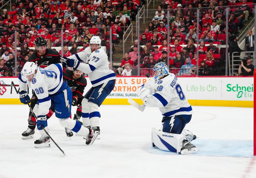
{"label": "white jersey with blue stripes on player number 77", "polygon": [[91,48],[87,47],[84,51],[68,58],[85,62],[80,63],[77,70],[88,74],[93,87],[106,81],[116,80],[115,72],[108,68],[108,56],[102,48],[92,52]]}

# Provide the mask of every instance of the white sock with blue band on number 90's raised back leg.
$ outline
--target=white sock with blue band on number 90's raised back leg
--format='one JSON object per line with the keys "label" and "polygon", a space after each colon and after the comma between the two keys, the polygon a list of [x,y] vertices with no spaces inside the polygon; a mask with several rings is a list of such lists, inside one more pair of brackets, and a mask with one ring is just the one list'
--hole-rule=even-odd
{"label": "white sock with blue band on number 90's raised back leg", "polygon": [[83,127],[77,120],[67,118],[67,119],[59,119],[59,121],[62,127],[69,128],[70,130],[78,133],[79,135],[86,136],[89,134],[89,129],[86,127]]}

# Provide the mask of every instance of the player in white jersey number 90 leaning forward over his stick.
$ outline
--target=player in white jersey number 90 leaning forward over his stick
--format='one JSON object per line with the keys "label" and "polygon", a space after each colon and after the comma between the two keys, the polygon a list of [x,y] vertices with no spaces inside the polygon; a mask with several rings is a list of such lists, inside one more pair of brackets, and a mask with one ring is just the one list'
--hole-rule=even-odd
{"label": "player in white jersey number 90 leaning forward over his stick", "polygon": [[59,119],[60,125],[72,131],[84,135],[86,144],[90,145],[96,139],[98,133],[69,118],[71,114],[72,91],[66,81],[63,81],[61,64],[51,64],[48,67],[40,68],[33,62],[25,63],[20,75],[20,102],[27,104],[30,99],[27,94],[27,85],[33,89],[38,98],[38,103],[34,107],[37,116],[36,126],[42,135],[35,141],[35,147],[50,147],[50,138],[43,128],[49,132],[47,127],[46,114],[51,105],[55,105],[55,116]]}

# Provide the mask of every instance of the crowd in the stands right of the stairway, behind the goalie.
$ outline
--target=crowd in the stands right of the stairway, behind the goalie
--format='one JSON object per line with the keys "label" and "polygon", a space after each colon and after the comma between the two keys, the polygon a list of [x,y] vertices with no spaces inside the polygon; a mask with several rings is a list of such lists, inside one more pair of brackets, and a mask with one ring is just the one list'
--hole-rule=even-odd
{"label": "crowd in the stands right of the stairway, behind the goalie", "polygon": [[[216,65],[220,62],[217,45],[225,44],[226,34],[238,35],[239,30],[248,24],[248,18],[252,15],[252,3],[254,2],[249,0],[163,0],[157,7],[152,22],[140,36],[140,75],[150,73],[150,68],[157,62],[168,63],[167,11],[170,14],[170,72],[176,75],[195,75],[198,60],[199,75],[214,75]],[[230,10],[227,32],[225,6]],[[197,8],[200,10],[198,22]],[[196,35],[197,23],[199,36]],[[199,56],[195,46],[197,40]],[[122,70],[126,63],[132,65],[132,70],[136,71],[137,55],[138,41],[135,40],[116,74],[123,75]]]}

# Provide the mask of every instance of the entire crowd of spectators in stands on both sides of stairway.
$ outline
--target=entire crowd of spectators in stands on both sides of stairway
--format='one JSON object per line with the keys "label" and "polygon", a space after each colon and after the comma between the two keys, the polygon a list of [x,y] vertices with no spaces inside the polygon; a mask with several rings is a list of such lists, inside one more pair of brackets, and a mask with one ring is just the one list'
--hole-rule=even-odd
{"label": "entire crowd of spectators in stands on both sides of stairway", "polygon": [[[152,22],[140,36],[140,64],[137,60],[138,41],[135,40],[132,49],[126,51],[124,58],[121,59],[122,64],[118,70],[116,69],[116,74],[137,74],[136,69],[139,65],[142,68],[140,74],[144,75],[150,72],[149,69],[157,62],[167,63],[168,34],[171,45],[170,72],[177,75],[194,74],[190,69],[195,68],[198,60],[202,69],[201,75],[214,74],[212,71],[215,62],[220,59],[219,49],[215,44],[224,44],[226,34],[237,35],[239,29],[247,23],[252,15],[250,5],[253,3],[247,1],[162,0],[152,17]],[[17,0],[12,4],[11,10],[4,9],[0,17],[0,55],[1,59],[4,59],[0,62],[0,75],[15,75],[13,55],[18,57],[17,71],[20,71],[34,52],[29,47],[34,46],[34,39],[38,36],[44,37],[47,40],[47,47],[52,49],[61,46],[63,37],[63,55],[68,57],[84,50],[92,36],[97,35],[100,36],[101,44],[106,46],[109,54],[110,40],[118,44],[127,26],[135,20],[143,3],[145,0]],[[229,6],[231,10],[228,17],[228,32],[226,32],[225,6]],[[200,10],[198,22],[197,8]],[[169,32],[167,32],[167,11],[170,13]],[[110,39],[110,29],[112,39]],[[15,54],[14,30],[17,30],[15,43],[20,47],[17,54]],[[199,36],[196,35],[197,30]],[[199,40],[199,56],[196,55],[197,40]],[[68,50],[68,47],[71,49]],[[58,52],[61,54],[61,51]],[[130,65],[126,65],[127,63]],[[129,67],[134,72],[129,72]]]}

